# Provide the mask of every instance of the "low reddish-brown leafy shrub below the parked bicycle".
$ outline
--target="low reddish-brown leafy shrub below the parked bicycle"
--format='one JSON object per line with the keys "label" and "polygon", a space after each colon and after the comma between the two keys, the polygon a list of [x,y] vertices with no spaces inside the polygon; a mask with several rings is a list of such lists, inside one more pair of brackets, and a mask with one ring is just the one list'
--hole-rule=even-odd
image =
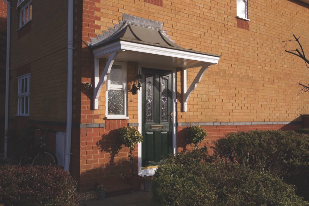
{"label": "low reddish-brown leafy shrub below the parked bicycle", "polygon": [[78,205],[76,180],[60,167],[0,166],[4,205]]}

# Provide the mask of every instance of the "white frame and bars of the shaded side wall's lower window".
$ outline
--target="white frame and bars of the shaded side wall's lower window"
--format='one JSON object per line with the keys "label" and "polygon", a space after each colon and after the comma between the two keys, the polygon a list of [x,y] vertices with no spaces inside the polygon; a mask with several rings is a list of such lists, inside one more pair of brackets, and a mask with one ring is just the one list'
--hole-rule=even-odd
{"label": "white frame and bars of the shaded side wall's lower window", "polygon": [[[27,90],[22,91],[22,88],[25,88],[25,81],[23,81],[23,87],[22,87],[22,80],[27,79]],[[30,74],[25,74],[22,76],[17,77],[17,116],[29,116],[30,114]],[[26,101],[21,101],[22,98],[28,97],[28,112],[26,113]],[[23,111],[21,111],[21,104],[23,105]]]}

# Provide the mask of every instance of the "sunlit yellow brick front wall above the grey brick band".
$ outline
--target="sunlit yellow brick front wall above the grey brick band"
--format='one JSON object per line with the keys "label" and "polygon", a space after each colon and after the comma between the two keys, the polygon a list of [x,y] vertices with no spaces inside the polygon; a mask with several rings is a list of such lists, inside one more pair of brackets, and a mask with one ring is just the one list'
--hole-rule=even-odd
{"label": "sunlit yellow brick front wall above the grey brick band", "polygon": [[[181,112],[182,99],[177,96],[178,122],[293,121],[309,113],[309,93],[297,95],[298,83],[309,82],[308,69],[284,52],[298,45],[282,43],[293,39],[293,33],[301,36],[309,55],[308,5],[249,0],[249,30],[244,30],[237,27],[236,1],[166,0],[163,7],[142,0],[90,2],[96,7],[96,34],[113,27],[126,13],[163,22],[167,34],[184,48],[222,55],[193,91],[187,112]],[[197,71],[188,70],[188,85]]]}

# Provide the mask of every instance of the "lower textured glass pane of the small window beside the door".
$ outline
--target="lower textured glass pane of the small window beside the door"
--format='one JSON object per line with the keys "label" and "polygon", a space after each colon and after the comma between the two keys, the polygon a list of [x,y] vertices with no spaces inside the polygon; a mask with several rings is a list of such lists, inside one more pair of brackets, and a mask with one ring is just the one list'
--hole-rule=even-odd
{"label": "lower textured glass pane of the small window beside the door", "polygon": [[124,91],[108,90],[108,114],[123,115],[124,114]]}

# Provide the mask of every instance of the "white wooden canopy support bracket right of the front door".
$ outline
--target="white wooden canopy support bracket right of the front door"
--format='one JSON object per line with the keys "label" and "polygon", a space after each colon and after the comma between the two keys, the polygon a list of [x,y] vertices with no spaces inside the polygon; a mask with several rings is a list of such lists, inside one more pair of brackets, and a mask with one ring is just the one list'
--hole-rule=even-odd
{"label": "white wooden canopy support bracket right of the front door", "polygon": [[207,65],[203,65],[200,69],[200,71],[197,73],[196,77],[194,78],[193,82],[191,83],[191,85],[189,86],[189,88],[187,89],[187,71],[186,69],[184,69],[183,72],[183,91],[184,93],[182,94],[182,102],[183,102],[183,111],[187,111],[187,102],[188,99],[191,95],[191,93],[193,92],[193,90],[196,89],[197,84],[199,82],[201,82],[202,77],[205,73],[205,71],[209,68],[209,64]]}

